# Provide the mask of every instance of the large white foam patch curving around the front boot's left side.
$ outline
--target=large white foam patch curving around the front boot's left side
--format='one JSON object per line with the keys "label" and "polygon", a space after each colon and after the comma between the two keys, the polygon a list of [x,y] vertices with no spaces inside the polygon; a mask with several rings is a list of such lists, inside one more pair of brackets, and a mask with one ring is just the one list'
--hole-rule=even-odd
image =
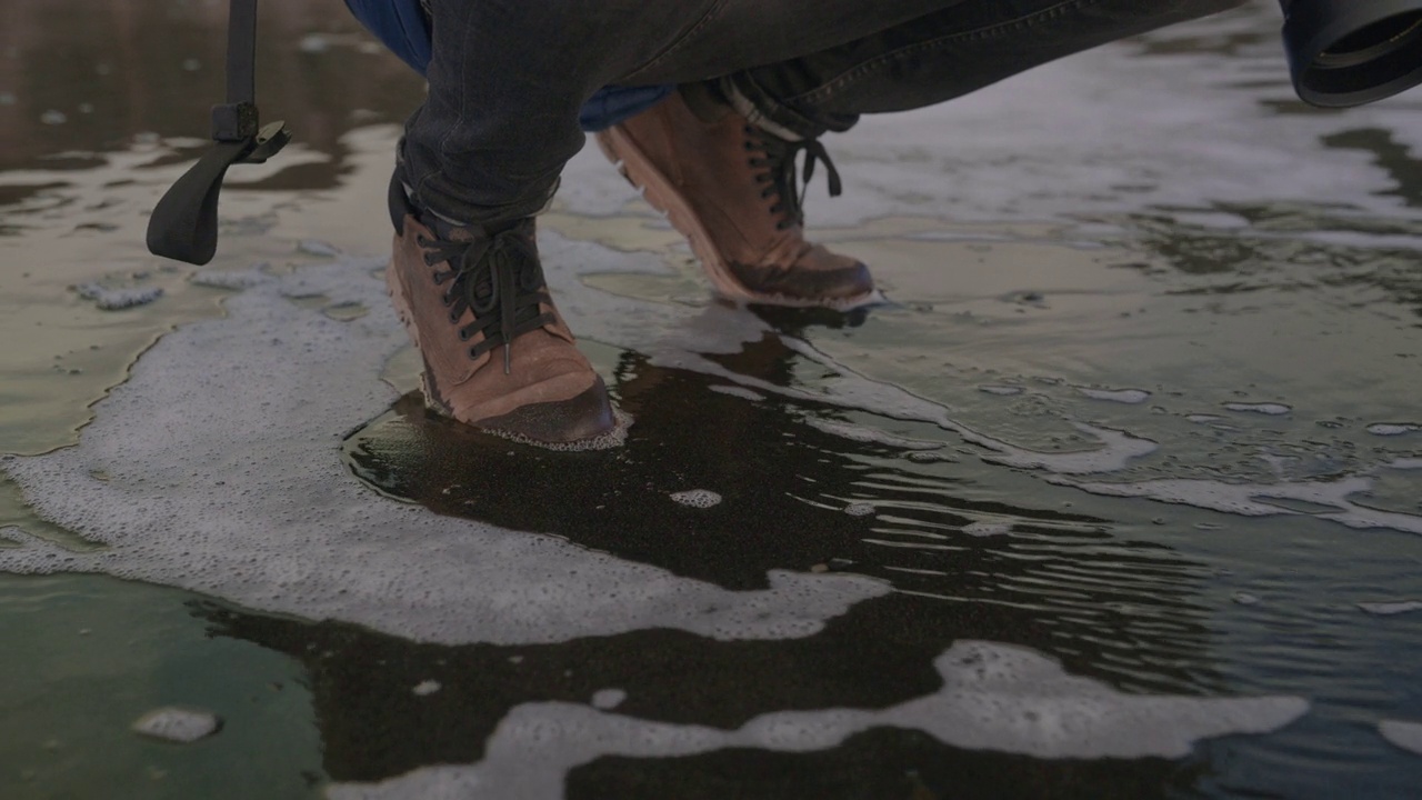
{"label": "large white foam patch curving around the front boot's left side", "polygon": [[[20,537],[26,547],[0,549],[0,569],[104,572],[442,643],[648,628],[809,636],[889,591],[789,571],[769,572],[765,589],[727,591],[370,491],[340,440],[394,400],[378,374],[404,332],[371,276],[378,263],[341,258],[230,296],[226,317],[183,326],[139,359],[77,447],[0,463],[41,517],[107,545],[78,554]],[[333,320],[284,299],[297,293],[371,313]]]}

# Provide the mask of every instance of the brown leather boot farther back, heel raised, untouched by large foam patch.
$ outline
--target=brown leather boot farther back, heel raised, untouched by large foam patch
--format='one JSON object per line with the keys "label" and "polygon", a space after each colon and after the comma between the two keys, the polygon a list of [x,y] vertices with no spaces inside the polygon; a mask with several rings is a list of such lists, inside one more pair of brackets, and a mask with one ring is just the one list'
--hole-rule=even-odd
{"label": "brown leather boot farther back, heel raised, untouched by large foam patch", "polygon": [[873,298],[869,269],[805,241],[795,157],[805,179],[815,161],[829,171],[823,145],[786,141],[718,102],[683,93],[597,134],[621,174],[691,243],[722,295],[781,306],[853,307]]}

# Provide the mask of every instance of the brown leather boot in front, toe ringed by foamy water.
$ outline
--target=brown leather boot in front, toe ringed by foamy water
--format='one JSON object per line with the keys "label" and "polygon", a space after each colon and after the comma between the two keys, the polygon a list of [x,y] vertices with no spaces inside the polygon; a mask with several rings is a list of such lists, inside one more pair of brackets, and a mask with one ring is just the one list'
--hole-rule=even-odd
{"label": "brown leather boot in front, toe ringed by foamy water", "polygon": [[488,232],[419,219],[391,185],[390,296],[425,360],[425,399],[462,423],[545,444],[616,427],[607,389],[543,279],[533,219]]}

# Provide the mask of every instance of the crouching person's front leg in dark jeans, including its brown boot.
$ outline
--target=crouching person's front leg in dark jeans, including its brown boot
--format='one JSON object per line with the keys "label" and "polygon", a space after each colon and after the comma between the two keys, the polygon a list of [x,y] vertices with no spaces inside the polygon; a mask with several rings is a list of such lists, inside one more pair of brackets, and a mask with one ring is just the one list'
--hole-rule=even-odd
{"label": "crouching person's front leg in dark jeans, including its brown boot", "polygon": [[695,3],[641,14],[637,31],[616,28],[631,3],[428,6],[429,95],[407,125],[391,182],[388,269],[424,357],[425,397],[496,433],[594,441],[614,428],[614,413],[549,293],[535,215],[584,142],[583,102],[637,63],[638,48],[673,38]]}

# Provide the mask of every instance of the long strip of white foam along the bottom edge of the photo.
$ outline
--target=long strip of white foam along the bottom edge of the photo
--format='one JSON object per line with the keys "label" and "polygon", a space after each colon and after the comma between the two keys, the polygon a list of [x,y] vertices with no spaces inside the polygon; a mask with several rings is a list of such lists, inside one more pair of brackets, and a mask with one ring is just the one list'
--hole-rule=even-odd
{"label": "long strip of white foam along the bottom edge of the photo", "polygon": [[1303,698],[1126,695],[1076,678],[1037,652],[964,641],[934,660],[943,686],[883,710],[775,712],[739,729],[674,725],[573,703],[515,707],[482,762],[422,767],[381,783],[344,783],[331,800],[563,797],[570,770],[600,757],[691,756],[728,747],[805,753],[875,727],[923,732],[953,747],[1041,759],[1187,756],[1200,739],[1268,733],[1308,710]]}

